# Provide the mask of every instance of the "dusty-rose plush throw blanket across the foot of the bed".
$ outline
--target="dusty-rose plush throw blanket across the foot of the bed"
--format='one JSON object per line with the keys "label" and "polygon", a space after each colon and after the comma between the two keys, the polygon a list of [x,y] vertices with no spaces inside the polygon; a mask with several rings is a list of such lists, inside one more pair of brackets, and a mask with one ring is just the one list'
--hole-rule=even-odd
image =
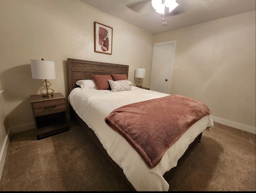
{"label": "dusty-rose plush throw blanket across the foot of the bed", "polygon": [[149,168],[195,122],[210,114],[198,100],[170,95],[121,106],[105,118],[110,128],[123,136],[140,154]]}

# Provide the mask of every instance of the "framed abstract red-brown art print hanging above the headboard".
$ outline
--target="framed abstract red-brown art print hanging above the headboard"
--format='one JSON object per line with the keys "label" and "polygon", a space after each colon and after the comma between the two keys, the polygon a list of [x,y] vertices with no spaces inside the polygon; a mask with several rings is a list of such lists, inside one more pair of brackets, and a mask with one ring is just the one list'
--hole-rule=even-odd
{"label": "framed abstract red-brown art print hanging above the headboard", "polygon": [[113,28],[94,22],[94,52],[112,54]]}

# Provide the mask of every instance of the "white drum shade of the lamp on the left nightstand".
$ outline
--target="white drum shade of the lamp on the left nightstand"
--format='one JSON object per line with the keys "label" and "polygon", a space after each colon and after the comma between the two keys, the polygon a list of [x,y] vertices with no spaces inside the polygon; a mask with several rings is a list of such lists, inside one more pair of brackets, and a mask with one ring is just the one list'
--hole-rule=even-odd
{"label": "white drum shade of the lamp on the left nightstand", "polygon": [[55,79],[55,66],[52,61],[30,60],[33,79]]}

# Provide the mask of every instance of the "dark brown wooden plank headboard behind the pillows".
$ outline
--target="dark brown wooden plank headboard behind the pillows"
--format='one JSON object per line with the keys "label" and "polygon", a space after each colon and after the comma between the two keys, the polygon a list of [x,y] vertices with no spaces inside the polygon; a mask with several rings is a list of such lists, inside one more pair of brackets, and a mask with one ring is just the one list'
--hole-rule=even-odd
{"label": "dark brown wooden plank headboard behind the pillows", "polygon": [[128,71],[128,65],[68,58],[68,93],[79,87],[76,81],[93,79],[93,75],[110,75],[111,73],[126,74],[128,77]]}

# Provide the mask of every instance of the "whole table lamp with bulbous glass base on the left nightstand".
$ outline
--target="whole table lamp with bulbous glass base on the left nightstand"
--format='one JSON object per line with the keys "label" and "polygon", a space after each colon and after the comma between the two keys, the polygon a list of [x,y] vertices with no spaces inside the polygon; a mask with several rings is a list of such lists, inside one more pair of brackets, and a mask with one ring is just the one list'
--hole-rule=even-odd
{"label": "whole table lamp with bulbous glass base on the left nightstand", "polygon": [[32,78],[43,79],[41,83],[43,88],[40,93],[43,97],[52,97],[54,90],[50,88],[51,83],[47,79],[55,79],[55,66],[52,61],[30,60]]}

